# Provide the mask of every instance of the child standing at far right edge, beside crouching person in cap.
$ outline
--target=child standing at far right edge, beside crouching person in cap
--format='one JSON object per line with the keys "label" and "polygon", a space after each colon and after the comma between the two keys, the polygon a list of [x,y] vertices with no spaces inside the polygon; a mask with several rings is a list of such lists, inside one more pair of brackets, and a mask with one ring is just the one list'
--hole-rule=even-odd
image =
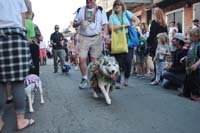
{"label": "child standing at far right edge, beside crouching person in cap", "polygon": [[200,28],[191,29],[189,35],[191,44],[186,58],[186,80],[179,96],[200,101]]}

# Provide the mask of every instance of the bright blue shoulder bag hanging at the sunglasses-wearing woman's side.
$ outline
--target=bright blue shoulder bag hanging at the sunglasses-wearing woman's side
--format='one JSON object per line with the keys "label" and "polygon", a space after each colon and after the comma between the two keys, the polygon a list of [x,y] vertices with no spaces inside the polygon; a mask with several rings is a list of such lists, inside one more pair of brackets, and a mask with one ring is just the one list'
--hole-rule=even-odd
{"label": "bright blue shoulder bag hanging at the sunglasses-wearing woman's side", "polygon": [[[132,23],[131,22],[132,20],[128,17],[127,13],[126,17],[129,20],[129,22]],[[128,47],[129,48],[137,47],[139,45],[138,32],[132,25],[128,26],[127,28],[128,28],[128,33],[127,33]]]}

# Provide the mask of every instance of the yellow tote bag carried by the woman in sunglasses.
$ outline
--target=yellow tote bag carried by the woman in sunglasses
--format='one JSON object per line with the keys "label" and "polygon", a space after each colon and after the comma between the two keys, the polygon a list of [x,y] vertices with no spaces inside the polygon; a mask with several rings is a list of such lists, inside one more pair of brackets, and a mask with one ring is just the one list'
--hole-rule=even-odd
{"label": "yellow tote bag carried by the woman in sunglasses", "polygon": [[126,39],[125,26],[121,31],[114,31],[111,33],[111,54],[128,53],[128,44]]}

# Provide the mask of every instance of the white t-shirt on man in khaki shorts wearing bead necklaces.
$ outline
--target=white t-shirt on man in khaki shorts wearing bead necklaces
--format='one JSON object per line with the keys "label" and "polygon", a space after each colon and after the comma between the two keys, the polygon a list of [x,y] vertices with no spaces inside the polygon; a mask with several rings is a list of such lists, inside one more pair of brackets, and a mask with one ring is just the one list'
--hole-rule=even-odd
{"label": "white t-shirt on man in khaki shorts wearing bead necklaces", "polygon": [[101,34],[102,26],[104,24],[108,24],[108,19],[104,10],[101,11],[98,8],[86,9],[85,6],[80,8],[79,12],[76,13],[74,18],[74,21],[77,22],[80,22],[81,20],[84,21],[83,23],[87,25],[87,28],[84,28],[82,25],[80,25],[78,27],[79,33],[85,36]]}

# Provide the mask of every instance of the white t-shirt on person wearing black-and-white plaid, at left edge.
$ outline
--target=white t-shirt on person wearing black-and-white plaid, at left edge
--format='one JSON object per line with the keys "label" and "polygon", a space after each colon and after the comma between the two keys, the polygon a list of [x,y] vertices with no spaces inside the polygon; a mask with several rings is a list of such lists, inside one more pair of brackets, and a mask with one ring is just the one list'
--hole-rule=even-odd
{"label": "white t-shirt on person wearing black-and-white plaid, at left edge", "polygon": [[21,13],[26,11],[24,0],[0,0],[0,28],[23,27]]}

